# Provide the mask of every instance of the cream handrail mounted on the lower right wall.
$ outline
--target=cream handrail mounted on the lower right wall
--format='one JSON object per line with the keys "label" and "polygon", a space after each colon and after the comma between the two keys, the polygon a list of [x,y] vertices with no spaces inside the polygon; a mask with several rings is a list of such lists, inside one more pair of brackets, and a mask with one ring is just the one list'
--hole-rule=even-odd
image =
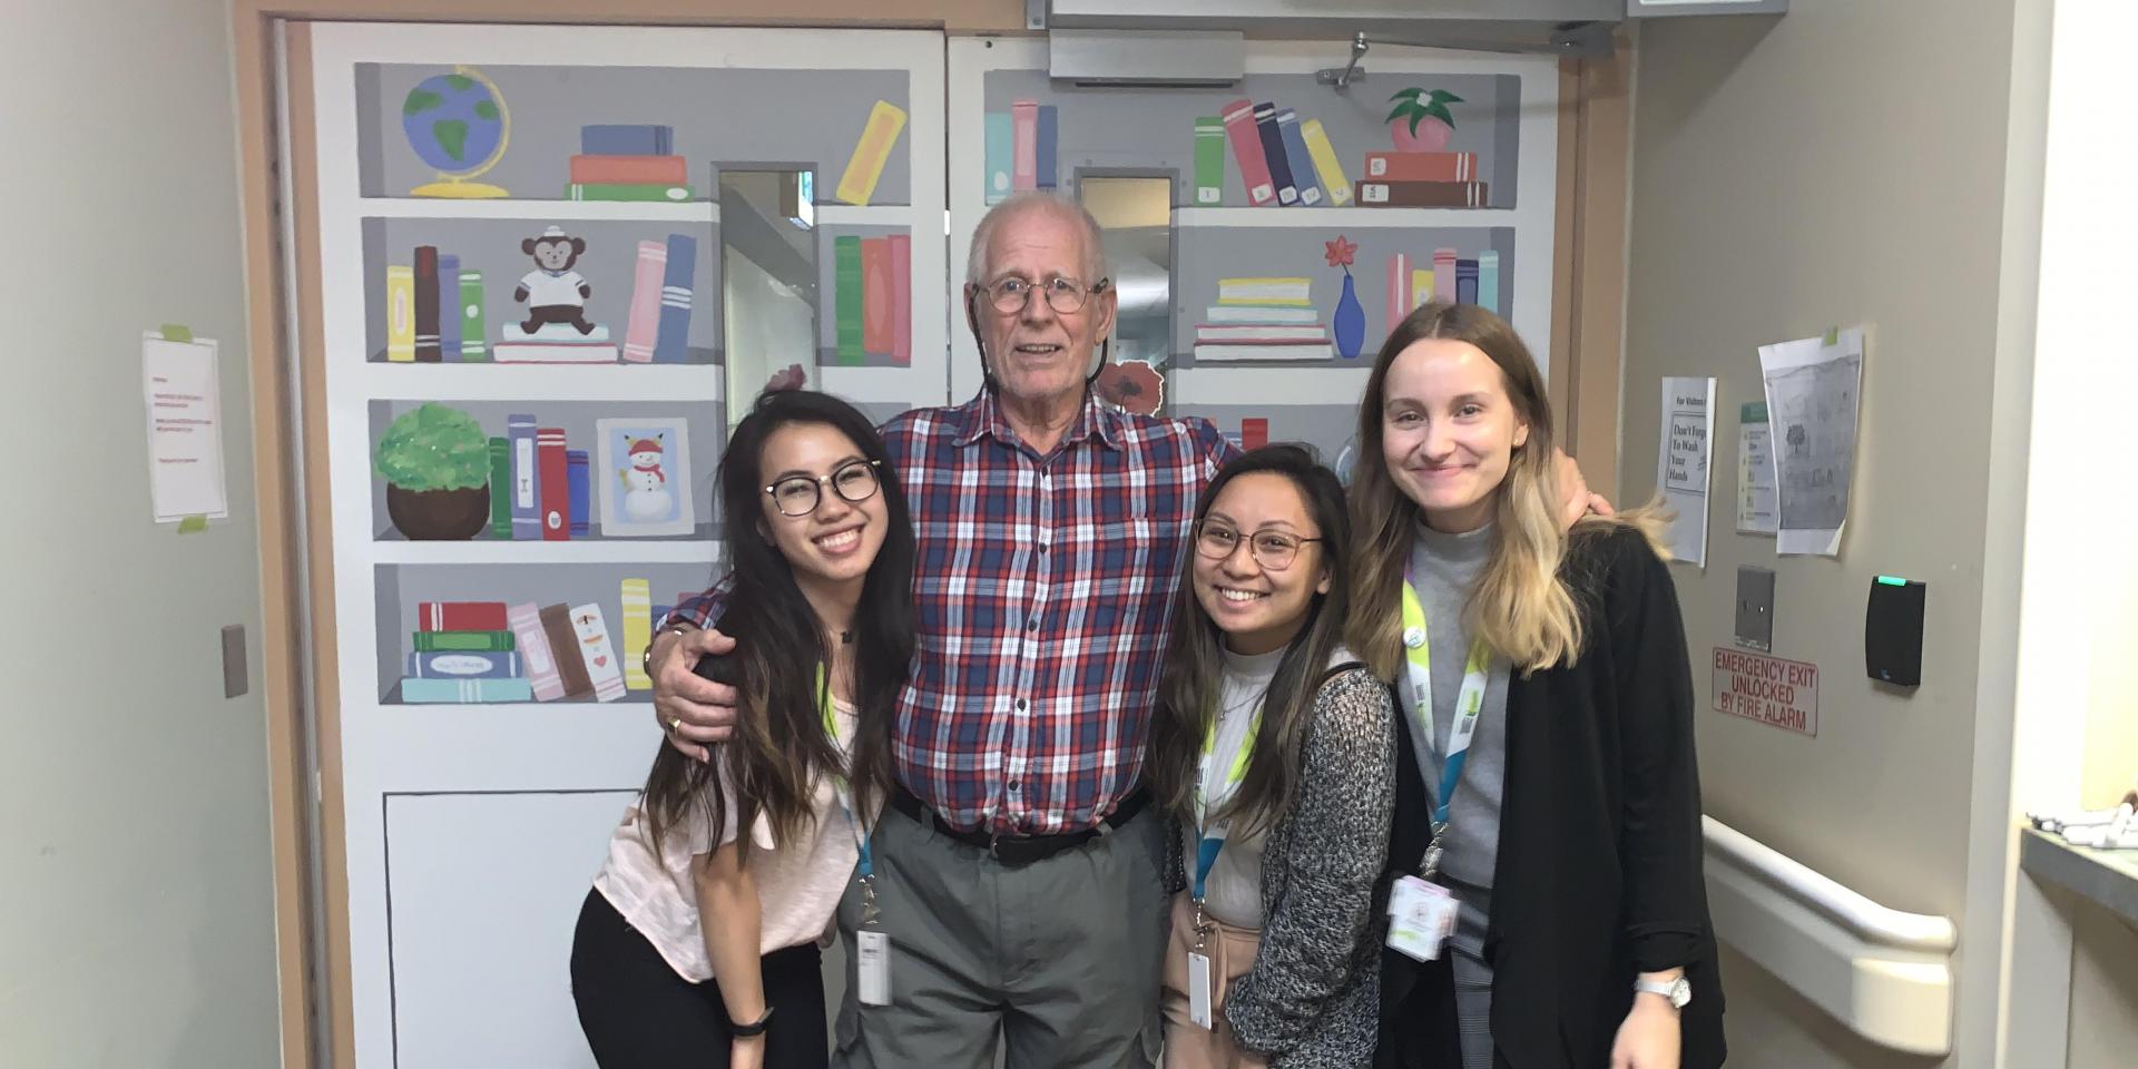
{"label": "cream handrail mounted on the lower right wall", "polygon": [[1952,1050],[1948,917],[1881,907],[1717,821],[1706,825],[1715,934],[1875,1043]]}

